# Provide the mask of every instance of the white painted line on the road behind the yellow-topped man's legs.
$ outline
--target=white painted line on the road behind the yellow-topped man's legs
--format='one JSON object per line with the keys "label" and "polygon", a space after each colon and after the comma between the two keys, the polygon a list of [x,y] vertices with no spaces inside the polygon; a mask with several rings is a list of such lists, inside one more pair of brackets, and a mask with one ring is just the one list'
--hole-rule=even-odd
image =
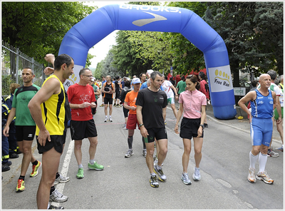
{"label": "white painted line on the road behind the yellow-topped man's legs", "polygon": [[[71,155],[73,153],[73,148],[74,148],[74,140],[71,140],[71,142],[68,145],[68,150],[66,152],[66,158],[64,158],[63,161],[63,167],[61,168],[61,175],[63,175],[63,177],[67,176],[69,163],[71,163]],[[61,192],[63,194],[63,189],[65,184],[66,182],[58,183],[58,185],[56,185],[56,189],[58,190],[58,192]],[[60,206],[59,202],[51,202],[51,204],[56,207]]]}

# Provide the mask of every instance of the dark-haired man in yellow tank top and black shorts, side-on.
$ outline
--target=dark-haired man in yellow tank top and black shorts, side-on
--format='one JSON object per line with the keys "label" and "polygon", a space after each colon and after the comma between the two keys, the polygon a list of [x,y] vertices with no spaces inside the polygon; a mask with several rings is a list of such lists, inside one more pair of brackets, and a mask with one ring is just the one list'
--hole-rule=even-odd
{"label": "dark-haired man in yellow tank top and black shorts, side-on", "polygon": [[47,209],[51,185],[55,181],[63,151],[63,130],[66,97],[62,81],[73,74],[74,61],[71,56],[61,54],[54,61],[53,76],[44,81],[40,91],[28,103],[36,122],[38,153],[42,154],[41,182],[36,201],[38,209]]}

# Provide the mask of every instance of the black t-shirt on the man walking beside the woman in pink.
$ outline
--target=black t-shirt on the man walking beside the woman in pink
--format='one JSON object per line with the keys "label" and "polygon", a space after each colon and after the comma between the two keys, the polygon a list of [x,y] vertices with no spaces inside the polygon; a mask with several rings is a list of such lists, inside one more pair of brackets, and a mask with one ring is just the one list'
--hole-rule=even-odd
{"label": "black t-shirt on the man walking beside the woman in pink", "polygon": [[138,92],[135,105],[142,106],[142,122],[145,128],[165,127],[162,108],[167,106],[167,96],[164,91],[154,92],[149,88],[143,88]]}

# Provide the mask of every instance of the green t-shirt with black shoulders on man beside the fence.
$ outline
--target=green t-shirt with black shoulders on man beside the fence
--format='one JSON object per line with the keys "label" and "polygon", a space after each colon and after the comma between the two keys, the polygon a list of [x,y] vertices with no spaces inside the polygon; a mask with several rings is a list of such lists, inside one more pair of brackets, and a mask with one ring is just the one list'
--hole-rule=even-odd
{"label": "green t-shirt with black shoulders on man beside the fence", "polygon": [[12,102],[12,108],[16,108],[15,125],[36,126],[28,110],[28,103],[35,96],[40,87],[33,84],[32,86],[21,86],[16,88]]}

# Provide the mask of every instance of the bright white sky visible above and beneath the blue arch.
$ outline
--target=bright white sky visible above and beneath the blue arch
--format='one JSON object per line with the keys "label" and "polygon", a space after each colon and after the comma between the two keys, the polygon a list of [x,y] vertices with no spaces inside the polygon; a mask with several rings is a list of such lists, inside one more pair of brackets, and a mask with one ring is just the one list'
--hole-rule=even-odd
{"label": "bright white sky visible above and beneath the blue arch", "polygon": [[[84,4],[88,6],[98,6],[98,8],[108,4],[127,4],[129,1],[86,1]],[[102,61],[108,54],[109,49],[116,44],[115,36],[118,30],[113,31],[111,34],[103,38],[100,42],[95,44],[93,48],[90,48],[88,53],[95,56],[92,58],[89,68],[96,68],[97,63]]]}

